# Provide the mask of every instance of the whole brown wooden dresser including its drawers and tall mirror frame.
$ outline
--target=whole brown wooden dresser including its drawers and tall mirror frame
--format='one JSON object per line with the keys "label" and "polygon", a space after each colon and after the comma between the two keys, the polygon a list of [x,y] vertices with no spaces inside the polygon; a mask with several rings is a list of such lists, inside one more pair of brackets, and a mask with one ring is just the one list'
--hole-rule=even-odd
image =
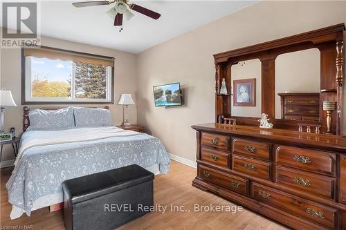
{"label": "whole brown wooden dresser including its drawers and tall mirror frame", "polygon": [[[346,230],[346,138],[340,136],[345,30],[340,23],[214,55],[215,123],[192,126],[197,131],[193,186],[293,229]],[[275,119],[277,57],[311,48],[320,52],[315,79],[320,92],[282,95],[285,119]],[[233,95],[219,94],[224,82],[230,89],[238,79],[232,67],[253,59],[261,62],[260,111],[274,128],[258,128],[260,117],[248,117],[245,108],[235,116]],[[335,102],[338,109],[327,117],[320,102]],[[316,133],[304,133],[311,127]],[[322,134],[328,129],[336,135]]]}

